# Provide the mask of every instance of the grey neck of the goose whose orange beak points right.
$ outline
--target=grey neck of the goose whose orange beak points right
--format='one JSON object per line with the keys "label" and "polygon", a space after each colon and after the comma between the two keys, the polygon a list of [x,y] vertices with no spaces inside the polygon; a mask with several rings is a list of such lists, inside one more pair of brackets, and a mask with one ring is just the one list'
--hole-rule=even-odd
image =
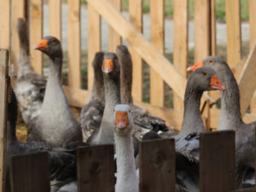
{"label": "grey neck of the goose whose orange beak points right", "polygon": [[194,131],[205,131],[200,113],[202,93],[202,90],[195,90],[193,86],[187,85],[184,98],[183,125],[179,136],[184,136]]}

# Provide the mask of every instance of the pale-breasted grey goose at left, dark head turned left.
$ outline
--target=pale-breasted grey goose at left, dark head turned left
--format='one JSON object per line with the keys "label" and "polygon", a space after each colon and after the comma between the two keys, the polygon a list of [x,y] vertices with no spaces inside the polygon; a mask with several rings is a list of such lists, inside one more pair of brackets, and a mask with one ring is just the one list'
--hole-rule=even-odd
{"label": "pale-breasted grey goose at left, dark head turned left", "polygon": [[80,125],[73,118],[61,86],[61,42],[47,36],[34,49],[49,56],[50,72],[40,113],[28,125],[28,141],[41,141],[55,147],[67,147],[69,143],[82,141]]}

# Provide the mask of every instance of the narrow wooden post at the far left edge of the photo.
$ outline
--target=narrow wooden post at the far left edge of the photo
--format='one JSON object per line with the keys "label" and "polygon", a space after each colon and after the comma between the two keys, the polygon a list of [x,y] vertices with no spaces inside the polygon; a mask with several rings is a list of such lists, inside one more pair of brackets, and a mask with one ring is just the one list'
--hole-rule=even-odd
{"label": "narrow wooden post at the far left edge of the photo", "polygon": [[0,49],[0,191],[4,190],[9,51]]}

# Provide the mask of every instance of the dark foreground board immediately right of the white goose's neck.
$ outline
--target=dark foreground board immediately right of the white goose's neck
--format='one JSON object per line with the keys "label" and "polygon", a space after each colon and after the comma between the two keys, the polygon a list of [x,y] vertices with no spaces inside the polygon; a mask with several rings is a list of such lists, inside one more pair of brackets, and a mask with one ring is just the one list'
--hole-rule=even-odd
{"label": "dark foreground board immediately right of the white goose's neck", "polygon": [[139,143],[140,192],[175,191],[174,139]]}

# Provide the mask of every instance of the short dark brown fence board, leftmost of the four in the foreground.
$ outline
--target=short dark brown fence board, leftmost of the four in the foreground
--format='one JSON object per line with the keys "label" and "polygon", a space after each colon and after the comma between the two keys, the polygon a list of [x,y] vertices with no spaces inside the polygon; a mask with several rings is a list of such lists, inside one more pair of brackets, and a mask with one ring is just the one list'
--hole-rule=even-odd
{"label": "short dark brown fence board, leftmost of the four in the foreground", "polygon": [[11,157],[10,175],[13,192],[49,191],[48,152]]}

